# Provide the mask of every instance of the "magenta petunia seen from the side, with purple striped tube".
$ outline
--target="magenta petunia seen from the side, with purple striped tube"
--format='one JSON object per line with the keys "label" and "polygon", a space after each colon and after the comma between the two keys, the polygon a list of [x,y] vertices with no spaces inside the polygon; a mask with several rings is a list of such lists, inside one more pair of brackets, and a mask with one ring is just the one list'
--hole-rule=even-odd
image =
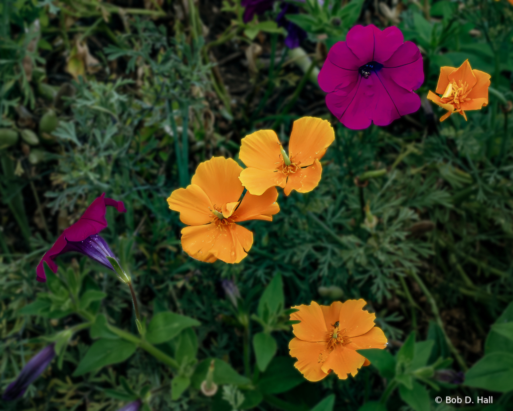
{"label": "magenta petunia seen from the side, with purple striped tube", "polygon": [[46,262],[53,272],[57,272],[57,264],[53,261],[57,256],[69,251],[77,251],[86,255],[94,261],[114,271],[106,256],[114,257],[107,242],[98,232],[107,227],[105,212],[107,206],[116,207],[117,211],[126,212],[122,201],[106,199],[105,193],[94,200],[82,217],[73,225],[66,228],[61,236],[55,241],[36,268],[36,280],[44,283],[46,281],[43,262]]}

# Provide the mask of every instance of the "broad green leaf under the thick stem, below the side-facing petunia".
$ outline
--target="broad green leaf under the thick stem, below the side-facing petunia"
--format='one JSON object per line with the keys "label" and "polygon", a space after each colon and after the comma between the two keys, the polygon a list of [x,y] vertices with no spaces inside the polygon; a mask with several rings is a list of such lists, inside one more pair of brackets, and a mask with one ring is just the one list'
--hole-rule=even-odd
{"label": "broad green leaf under the thick stem, below the side-facing petunia", "polygon": [[78,363],[73,377],[106,365],[123,362],[135,352],[135,344],[124,340],[98,340],[91,345],[84,358]]}

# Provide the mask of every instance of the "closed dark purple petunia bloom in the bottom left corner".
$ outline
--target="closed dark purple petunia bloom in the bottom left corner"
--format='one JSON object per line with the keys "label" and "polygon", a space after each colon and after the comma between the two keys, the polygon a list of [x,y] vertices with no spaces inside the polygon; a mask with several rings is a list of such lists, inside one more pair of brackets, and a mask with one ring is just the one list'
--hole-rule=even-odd
{"label": "closed dark purple petunia bloom in the bottom left corner", "polygon": [[25,364],[22,372],[19,373],[18,378],[11,382],[4,391],[4,394],[2,395],[2,399],[4,401],[12,401],[21,397],[27,390],[28,386],[43,373],[55,357],[53,346],[54,344],[46,346],[32,357],[27,364]]}

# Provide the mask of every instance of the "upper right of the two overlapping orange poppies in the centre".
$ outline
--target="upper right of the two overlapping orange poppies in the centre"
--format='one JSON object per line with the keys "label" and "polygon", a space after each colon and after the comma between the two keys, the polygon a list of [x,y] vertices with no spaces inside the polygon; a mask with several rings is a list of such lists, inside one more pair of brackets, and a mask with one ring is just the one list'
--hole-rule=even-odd
{"label": "upper right of the two overlapping orange poppies in the centre", "polygon": [[241,142],[239,158],[248,167],[241,173],[242,184],[255,195],[274,186],[285,195],[311,191],[321,180],[319,160],[334,139],[328,121],[303,117],[294,121],[287,155],[274,131],[255,131]]}

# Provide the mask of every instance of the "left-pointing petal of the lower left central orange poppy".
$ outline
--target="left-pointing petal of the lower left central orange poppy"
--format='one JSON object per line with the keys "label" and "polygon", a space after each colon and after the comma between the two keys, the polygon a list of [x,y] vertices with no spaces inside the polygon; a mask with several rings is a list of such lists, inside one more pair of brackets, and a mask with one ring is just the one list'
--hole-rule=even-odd
{"label": "left-pointing petal of the lower left central orange poppy", "polygon": [[212,221],[212,203],[199,186],[191,184],[174,190],[167,203],[171,210],[180,212],[180,221],[184,224],[203,225]]}

